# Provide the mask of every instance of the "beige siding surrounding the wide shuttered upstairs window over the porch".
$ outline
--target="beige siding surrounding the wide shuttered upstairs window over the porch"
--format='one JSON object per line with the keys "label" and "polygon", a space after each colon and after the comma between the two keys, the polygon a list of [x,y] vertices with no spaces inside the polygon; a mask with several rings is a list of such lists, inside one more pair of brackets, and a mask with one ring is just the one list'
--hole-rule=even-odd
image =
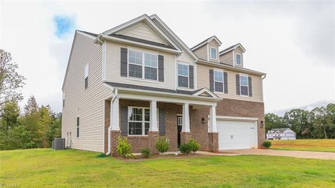
{"label": "beige siding surrounding the wide shuttered upstairs window over the porch", "polygon": [[[121,47],[135,49],[143,52],[151,52],[164,56],[164,81],[152,81],[133,77],[121,77]],[[153,52],[149,49],[132,47],[121,43],[107,42],[106,45],[106,79],[111,82],[150,86],[155,88],[175,89],[176,63],[175,55],[165,52]]]}

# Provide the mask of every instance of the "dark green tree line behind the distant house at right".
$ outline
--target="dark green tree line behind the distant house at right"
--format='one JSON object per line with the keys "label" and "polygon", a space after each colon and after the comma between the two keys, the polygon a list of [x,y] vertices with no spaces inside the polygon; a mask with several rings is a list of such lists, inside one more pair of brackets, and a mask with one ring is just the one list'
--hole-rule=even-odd
{"label": "dark green tree line behind the distant house at right", "polygon": [[283,117],[265,114],[266,131],[286,127],[295,132],[297,139],[335,139],[335,104],[311,111],[292,109]]}

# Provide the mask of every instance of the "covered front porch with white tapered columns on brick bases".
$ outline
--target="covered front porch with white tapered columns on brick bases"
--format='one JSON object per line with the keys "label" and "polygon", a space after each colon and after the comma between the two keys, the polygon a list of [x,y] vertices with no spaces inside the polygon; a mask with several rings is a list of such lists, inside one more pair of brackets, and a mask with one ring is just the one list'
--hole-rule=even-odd
{"label": "covered front porch with white tapered columns on brick bases", "polygon": [[134,94],[119,90],[105,100],[105,153],[116,155],[119,136],[128,139],[132,152],[150,148],[158,153],[155,148],[158,136],[170,141],[170,152],[177,151],[179,144],[191,138],[200,143],[200,150],[218,152],[215,101],[209,97],[185,99]]}

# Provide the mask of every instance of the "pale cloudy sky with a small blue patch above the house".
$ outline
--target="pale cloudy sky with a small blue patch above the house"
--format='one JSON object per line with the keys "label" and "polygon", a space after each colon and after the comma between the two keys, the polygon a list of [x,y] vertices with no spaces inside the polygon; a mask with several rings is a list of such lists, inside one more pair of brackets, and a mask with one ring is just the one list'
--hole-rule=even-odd
{"label": "pale cloudy sky with a small blue patch above the house", "polygon": [[266,72],[265,111],[282,114],[335,102],[334,1],[0,1],[0,48],[27,78],[23,107],[61,111],[75,29],[102,33],[142,14],[157,14],[188,47],[217,36],[241,43],[244,67]]}

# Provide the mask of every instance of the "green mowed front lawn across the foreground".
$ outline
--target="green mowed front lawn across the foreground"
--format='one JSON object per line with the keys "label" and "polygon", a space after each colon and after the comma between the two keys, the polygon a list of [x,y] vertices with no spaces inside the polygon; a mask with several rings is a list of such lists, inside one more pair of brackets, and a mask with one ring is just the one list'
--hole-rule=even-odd
{"label": "green mowed front lawn across the foreground", "polygon": [[334,187],[335,161],[261,155],[124,162],[82,150],[1,151],[2,186]]}

